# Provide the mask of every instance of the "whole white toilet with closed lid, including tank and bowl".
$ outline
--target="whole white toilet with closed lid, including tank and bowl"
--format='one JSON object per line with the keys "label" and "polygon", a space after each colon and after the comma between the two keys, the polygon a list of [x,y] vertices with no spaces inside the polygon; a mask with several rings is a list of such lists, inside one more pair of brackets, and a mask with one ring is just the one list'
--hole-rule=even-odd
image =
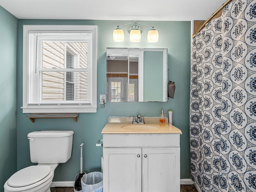
{"label": "whole white toilet with closed lid, including tank and bowl", "polygon": [[34,131],[28,134],[30,160],[38,163],[14,173],[4,192],[50,192],[54,170],[71,157],[73,131]]}

